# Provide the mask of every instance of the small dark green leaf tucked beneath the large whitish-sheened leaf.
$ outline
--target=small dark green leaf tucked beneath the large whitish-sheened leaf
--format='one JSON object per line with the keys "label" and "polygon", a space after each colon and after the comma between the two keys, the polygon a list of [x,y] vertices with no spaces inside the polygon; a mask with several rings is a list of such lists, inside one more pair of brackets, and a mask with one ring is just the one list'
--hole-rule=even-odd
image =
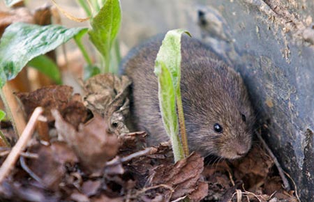
{"label": "small dark green leaf tucked beneath the large whitish-sheened leaf", "polygon": [[36,68],[38,71],[50,77],[57,84],[61,84],[61,74],[59,68],[52,59],[48,58],[45,55],[37,56],[36,58],[29,61],[27,64],[33,68]]}

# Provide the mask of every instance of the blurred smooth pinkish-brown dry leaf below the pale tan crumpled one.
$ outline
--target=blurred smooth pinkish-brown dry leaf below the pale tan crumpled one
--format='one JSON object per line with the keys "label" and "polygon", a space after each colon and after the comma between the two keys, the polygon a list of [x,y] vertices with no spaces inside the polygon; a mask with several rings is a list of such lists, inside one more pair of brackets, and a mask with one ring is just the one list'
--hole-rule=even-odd
{"label": "blurred smooth pinkish-brown dry leaf below the pale tan crumpled one", "polygon": [[94,118],[84,125],[80,124],[76,131],[73,125],[63,120],[59,111],[54,109],[52,114],[58,133],[73,148],[85,170],[97,173],[107,160],[117,155],[118,138],[108,132],[101,116],[94,114]]}

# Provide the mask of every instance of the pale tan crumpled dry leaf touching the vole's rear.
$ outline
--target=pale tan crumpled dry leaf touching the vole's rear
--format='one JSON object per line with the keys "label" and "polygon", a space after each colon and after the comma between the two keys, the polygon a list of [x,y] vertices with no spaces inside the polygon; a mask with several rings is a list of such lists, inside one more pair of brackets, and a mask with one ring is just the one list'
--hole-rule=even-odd
{"label": "pale tan crumpled dry leaf touching the vole's rear", "polygon": [[84,104],[91,111],[107,117],[107,125],[114,134],[128,133],[125,117],[129,113],[128,87],[130,79],[113,74],[96,75],[84,83]]}

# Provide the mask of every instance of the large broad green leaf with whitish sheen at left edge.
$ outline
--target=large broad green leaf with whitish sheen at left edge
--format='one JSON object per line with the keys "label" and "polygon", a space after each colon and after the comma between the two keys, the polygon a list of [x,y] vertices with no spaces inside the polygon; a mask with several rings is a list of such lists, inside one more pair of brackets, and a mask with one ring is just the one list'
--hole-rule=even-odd
{"label": "large broad green leaf with whitish sheen at left edge", "polygon": [[86,31],[87,28],[67,29],[60,25],[11,24],[0,41],[0,87],[15,78],[31,59]]}

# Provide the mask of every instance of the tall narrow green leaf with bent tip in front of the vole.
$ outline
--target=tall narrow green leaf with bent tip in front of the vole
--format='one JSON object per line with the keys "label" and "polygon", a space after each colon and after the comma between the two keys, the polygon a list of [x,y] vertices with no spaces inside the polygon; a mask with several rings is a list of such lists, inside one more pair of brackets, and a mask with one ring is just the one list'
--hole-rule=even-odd
{"label": "tall narrow green leaf with bent tip in front of the vole", "polygon": [[[158,77],[158,98],[165,131],[170,137],[174,160],[184,158],[184,149],[179,138],[176,99],[180,93],[181,77],[181,34],[188,33],[177,29],[168,31],[155,61],[155,74]],[[189,33],[188,33],[189,35]],[[183,111],[183,110],[182,110]]]}

